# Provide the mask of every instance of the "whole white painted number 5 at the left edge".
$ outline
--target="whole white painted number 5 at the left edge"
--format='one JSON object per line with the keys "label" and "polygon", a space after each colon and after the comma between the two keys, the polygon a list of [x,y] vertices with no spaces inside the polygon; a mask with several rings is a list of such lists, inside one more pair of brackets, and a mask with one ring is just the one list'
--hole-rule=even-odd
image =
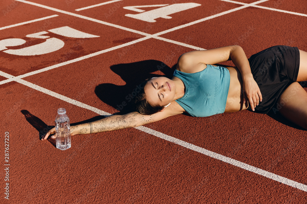
{"label": "whole white painted number 5 at the left edge", "polygon": [[[91,35],[91,34],[70,28],[68,26],[54,28],[48,31],[55,33],[57,35],[62,35],[62,36],[69,37],[69,38],[96,38],[96,37],[99,37],[98,35]],[[42,31],[42,32],[26,35],[26,37],[29,37],[29,38],[46,39],[46,41],[43,43],[37,44],[37,45],[32,45],[32,46],[28,46],[28,47],[24,47],[24,48],[16,49],[16,50],[13,50],[13,49],[8,50],[7,47],[23,45],[26,43],[24,39],[9,38],[9,39],[0,40],[0,51],[4,50],[3,52],[7,54],[31,56],[31,55],[51,53],[56,50],[60,50],[62,47],[64,47],[64,41],[57,39],[57,38],[50,38],[49,36],[45,35],[47,33],[48,32],[46,31]]]}

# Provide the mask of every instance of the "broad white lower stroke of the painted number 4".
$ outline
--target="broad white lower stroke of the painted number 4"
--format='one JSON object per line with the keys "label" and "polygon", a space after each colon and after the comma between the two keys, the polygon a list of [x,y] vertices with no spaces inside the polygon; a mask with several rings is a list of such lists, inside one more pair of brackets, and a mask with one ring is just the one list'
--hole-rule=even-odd
{"label": "broad white lower stroke of the painted number 4", "polygon": [[[150,7],[151,5],[148,5],[148,7]],[[157,6],[157,5],[154,5]],[[157,9],[153,9],[150,11],[146,11],[143,13],[138,13],[138,14],[126,14],[125,16],[127,17],[131,17],[131,18],[135,18],[138,20],[143,20],[146,22],[150,22],[150,23],[154,23],[156,22],[156,18],[166,18],[166,19],[170,19],[172,17],[168,16],[170,14],[173,13],[178,13],[187,9],[192,9],[195,8],[197,6],[201,6],[201,4],[197,4],[197,3],[180,3],[180,4],[172,4],[169,6],[164,6],[161,8],[157,8]],[[142,6],[142,7],[146,7],[146,6]]]}

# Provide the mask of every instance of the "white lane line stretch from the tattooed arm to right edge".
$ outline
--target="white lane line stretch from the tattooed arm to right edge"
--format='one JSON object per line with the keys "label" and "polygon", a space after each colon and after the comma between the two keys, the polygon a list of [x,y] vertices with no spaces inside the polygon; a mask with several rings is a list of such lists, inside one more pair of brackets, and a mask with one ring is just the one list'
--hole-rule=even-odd
{"label": "white lane line stretch from the tattooed arm to right edge", "polygon": [[271,172],[265,171],[263,169],[259,169],[257,167],[245,164],[245,163],[243,163],[241,161],[237,161],[235,159],[232,159],[232,158],[229,158],[229,157],[225,157],[225,156],[223,156],[221,154],[217,154],[217,153],[212,152],[210,150],[206,150],[206,149],[204,149],[202,147],[198,147],[198,146],[193,145],[191,143],[187,143],[187,142],[182,141],[180,139],[177,139],[175,137],[172,137],[172,136],[169,136],[169,135],[165,135],[165,134],[163,134],[161,132],[155,131],[153,129],[150,129],[150,128],[147,128],[147,127],[144,127],[144,126],[136,127],[136,129],[141,130],[143,132],[146,132],[148,134],[157,136],[157,137],[159,137],[161,139],[165,139],[165,140],[167,140],[169,142],[175,143],[177,145],[180,145],[182,147],[188,148],[190,150],[199,152],[199,153],[207,155],[209,157],[218,159],[220,161],[224,161],[224,162],[226,162],[228,164],[240,167],[240,168],[245,169],[247,171],[254,172],[254,173],[258,174],[258,175],[267,177],[269,179],[278,181],[280,183],[283,183],[283,184],[286,184],[288,186],[291,186],[291,187],[294,187],[294,188],[297,188],[297,189],[300,189],[302,191],[306,191],[307,192],[307,185],[305,185],[305,184],[301,184],[301,183],[298,183],[296,181],[287,179],[285,177],[278,176],[278,175],[276,175],[274,173],[271,173]]}

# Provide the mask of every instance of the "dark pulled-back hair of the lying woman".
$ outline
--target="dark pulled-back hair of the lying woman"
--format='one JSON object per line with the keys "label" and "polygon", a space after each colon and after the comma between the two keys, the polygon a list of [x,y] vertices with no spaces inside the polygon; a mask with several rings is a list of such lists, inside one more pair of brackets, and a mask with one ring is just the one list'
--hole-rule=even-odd
{"label": "dark pulled-back hair of the lying woman", "polygon": [[139,85],[139,87],[141,87],[141,90],[134,97],[135,109],[142,115],[151,115],[151,114],[159,112],[160,110],[164,108],[163,106],[151,105],[146,100],[146,94],[144,91],[144,87],[147,82],[148,82],[148,79],[146,79],[143,83]]}

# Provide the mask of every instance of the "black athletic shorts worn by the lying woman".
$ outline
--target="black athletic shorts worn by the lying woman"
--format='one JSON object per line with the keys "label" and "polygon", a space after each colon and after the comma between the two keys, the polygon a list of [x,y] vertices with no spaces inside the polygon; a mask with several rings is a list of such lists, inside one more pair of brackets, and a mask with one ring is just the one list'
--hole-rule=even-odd
{"label": "black athletic shorts worn by the lying woman", "polygon": [[252,55],[248,61],[262,94],[262,102],[256,106],[255,112],[268,113],[283,91],[297,80],[299,50],[297,47],[273,46]]}

